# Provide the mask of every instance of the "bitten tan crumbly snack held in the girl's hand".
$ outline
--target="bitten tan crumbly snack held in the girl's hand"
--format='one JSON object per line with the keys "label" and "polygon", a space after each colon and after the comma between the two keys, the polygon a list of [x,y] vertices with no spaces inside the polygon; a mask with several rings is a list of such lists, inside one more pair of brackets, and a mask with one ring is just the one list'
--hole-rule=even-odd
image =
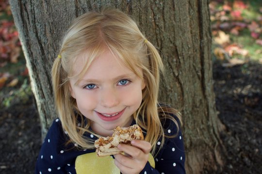
{"label": "bitten tan crumbly snack held in the girl's hand", "polygon": [[96,153],[98,157],[105,157],[122,153],[118,150],[117,145],[131,145],[131,140],[144,140],[144,135],[138,125],[133,125],[128,128],[120,128],[117,126],[114,133],[108,137],[100,137],[95,141]]}

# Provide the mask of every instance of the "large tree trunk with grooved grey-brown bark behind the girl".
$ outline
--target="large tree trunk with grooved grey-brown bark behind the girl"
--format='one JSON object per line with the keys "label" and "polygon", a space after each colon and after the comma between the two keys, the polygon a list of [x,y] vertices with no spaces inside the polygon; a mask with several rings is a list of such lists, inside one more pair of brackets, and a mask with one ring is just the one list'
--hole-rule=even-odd
{"label": "large tree trunk with grooved grey-brown bark behind the girl", "polygon": [[160,100],[181,109],[186,170],[223,165],[213,93],[207,0],[9,0],[27,61],[44,137],[56,117],[50,70],[70,21],[102,6],[131,14],[166,67]]}

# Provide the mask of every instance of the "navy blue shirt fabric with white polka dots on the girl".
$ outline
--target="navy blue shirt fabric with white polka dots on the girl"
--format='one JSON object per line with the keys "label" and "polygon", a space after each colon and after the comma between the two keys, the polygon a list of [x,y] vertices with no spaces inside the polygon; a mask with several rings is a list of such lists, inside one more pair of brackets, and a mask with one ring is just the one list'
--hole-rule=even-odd
{"label": "navy blue shirt fabric with white polka dots on the girl", "polygon": [[[132,124],[135,124],[133,121]],[[165,121],[164,130],[167,135],[177,132],[176,125]],[[86,133],[92,140],[98,137]],[[53,121],[36,161],[35,174],[76,174],[75,160],[78,156],[95,152],[95,149],[79,150],[74,145],[66,145],[68,136],[63,130],[61,121],[57,118]],[[157,150],[161,141],[157,142]],[[183,138],[179,129],[175,138],[165,138],[164,146],[160,149],[155,160],[155,168],[147,162],[140,174],[185,174],[185,152]]]}

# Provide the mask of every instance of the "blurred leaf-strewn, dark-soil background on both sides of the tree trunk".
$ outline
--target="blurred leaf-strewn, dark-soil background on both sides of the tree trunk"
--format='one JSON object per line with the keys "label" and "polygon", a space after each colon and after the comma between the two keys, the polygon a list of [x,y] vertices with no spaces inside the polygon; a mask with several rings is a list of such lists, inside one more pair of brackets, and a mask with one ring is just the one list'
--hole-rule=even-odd
{"label": "blurred leaf-strewn, dark-soil background on both sides of the tree trunk", "polygon": [[[262,1],[210,0],[218,116],[227,154],[223,172],[262,171]],[[8,0],[0,0],[0,173],[33,173],[41,129]]]}

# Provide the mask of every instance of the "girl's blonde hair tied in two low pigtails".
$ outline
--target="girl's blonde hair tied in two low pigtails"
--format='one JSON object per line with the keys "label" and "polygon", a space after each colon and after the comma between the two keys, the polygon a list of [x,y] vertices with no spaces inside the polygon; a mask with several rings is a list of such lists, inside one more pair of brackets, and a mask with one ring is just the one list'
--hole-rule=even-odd
{"label": "girl's blonde hair tied in two low pigtails", "polygon": [[[160,72],[164,67],[157,49],[146,40],[130,16],[116,9],[83,14],[73,21],[66,32],[60,55],[52,68],[55,103],[63,129],[68,133],[70,143],[82,148],[94,148],[94,142],[84,133],[95,132],[90,131],[90,121],[87,124],[84,122],[75,99],[70,95],[69,79],[73,75],[71,65],[77,57],[85,54],[84,68],[77,74],[80,79],[92,61],[106,50],[110,50],[146,82],[141,106],[133,117],[136,124],[147,130],[145,140],[151,143],[151,153],[154,154],[156,142],[162,137],[163,145],[166,136],[161,119],[171,119],[179,128],[177,121],[168,113],[177,114],[179,120],[180,115],[176,110],[161,107],[158,103]],[[139,73],[141,69],[143,74]],[[159,112],[164,115],[159,116]]]}

